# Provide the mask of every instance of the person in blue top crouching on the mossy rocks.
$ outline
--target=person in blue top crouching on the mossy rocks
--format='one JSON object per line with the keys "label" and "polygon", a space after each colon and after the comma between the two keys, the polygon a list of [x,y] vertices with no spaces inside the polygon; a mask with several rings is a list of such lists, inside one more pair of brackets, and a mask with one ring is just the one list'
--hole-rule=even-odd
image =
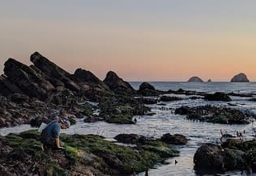
{"label": "person in blue top crouching on the mossy rocks", "polygon": [[42,150],[63,149],[63,147],[60,145],[59,134],[61,129],[66,129],[69,127],[70,127],[70,122],[66,119],[54,120],[48,123],[46,128],[44,128],[41,133]]}

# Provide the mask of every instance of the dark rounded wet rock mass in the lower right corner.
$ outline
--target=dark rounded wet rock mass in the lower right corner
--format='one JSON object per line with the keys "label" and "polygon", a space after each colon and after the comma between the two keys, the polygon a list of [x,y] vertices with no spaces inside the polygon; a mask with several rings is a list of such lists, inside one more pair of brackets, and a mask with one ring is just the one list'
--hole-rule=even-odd
{"label": "dark rounded wet rock mass in the lower right corner", "polygon": [[220,174],[230,170],[250,174],[256,171],[255,146],[255,140],[242,139],[228,139],[221,146],[204,144],[194,154],[194,169],[198,174]]}

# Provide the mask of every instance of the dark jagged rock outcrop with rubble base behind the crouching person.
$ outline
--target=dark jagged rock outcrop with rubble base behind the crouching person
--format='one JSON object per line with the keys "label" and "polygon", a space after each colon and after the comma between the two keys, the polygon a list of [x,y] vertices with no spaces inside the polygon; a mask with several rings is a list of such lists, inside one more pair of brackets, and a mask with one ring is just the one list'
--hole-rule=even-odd
{"label": "dark jagged rock outcrop with rubble base behind the crouching person", "polygon": [[[38,126],[58,114],[91,118],[95,108],[101,111],[100,118],[95,119],[134,123],[133,115],[148,110],[130,96],[137,94],[136,90],[114,72],[107,74],[105,83],[87,70],[69,74],[38,52],[31,54],[30,61],[34,65],[26,66],[14,58],[5,62],[4,74],[0,76],[0,95],[4,96],[0,96],[0,127],[22,123]],[[86,100],[99,102],[99,106],[87,106]],[[111,111],[120,105],[124,106],[121,113]],[[49,113],[49,109],[58,114]]]}

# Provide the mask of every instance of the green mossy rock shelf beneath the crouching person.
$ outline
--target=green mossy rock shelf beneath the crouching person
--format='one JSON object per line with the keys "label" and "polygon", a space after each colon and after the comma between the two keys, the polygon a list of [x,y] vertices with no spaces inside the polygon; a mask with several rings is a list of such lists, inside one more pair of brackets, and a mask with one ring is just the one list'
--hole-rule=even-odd
{"label": "green mossy rock shelf beneath the crouching person", "polygon": [[178,150],[161,142],[118,146],[97,135],[62,134],[64,150],[41,150],[36,130],[0,138],[3,175],[117,175],[148,170]]}

